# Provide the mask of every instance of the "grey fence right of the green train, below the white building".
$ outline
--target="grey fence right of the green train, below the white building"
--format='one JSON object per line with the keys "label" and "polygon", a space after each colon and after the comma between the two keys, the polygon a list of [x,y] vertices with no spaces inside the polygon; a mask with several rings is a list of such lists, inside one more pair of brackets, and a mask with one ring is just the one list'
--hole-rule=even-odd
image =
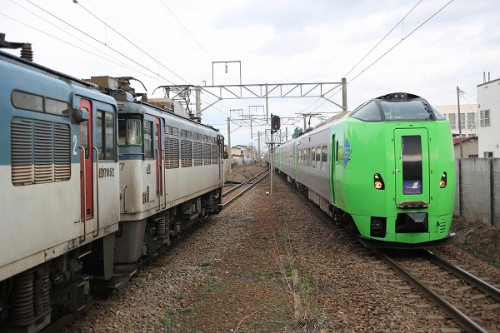
{"label": "grey fence right of the green train, below the white building", "polygon": [[457,159],[455,167],[455,214],[500,228],[500,158]]}

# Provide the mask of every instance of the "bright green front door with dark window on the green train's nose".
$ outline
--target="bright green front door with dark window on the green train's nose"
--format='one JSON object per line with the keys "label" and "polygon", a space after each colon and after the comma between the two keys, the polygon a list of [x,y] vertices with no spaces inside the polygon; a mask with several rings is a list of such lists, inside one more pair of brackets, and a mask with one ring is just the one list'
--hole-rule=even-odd
{"label": "bright green front door with dark window on the green train's nose", "polygon": [[429,150],[425,128],[394,130],[396,204],[429,203]]}

